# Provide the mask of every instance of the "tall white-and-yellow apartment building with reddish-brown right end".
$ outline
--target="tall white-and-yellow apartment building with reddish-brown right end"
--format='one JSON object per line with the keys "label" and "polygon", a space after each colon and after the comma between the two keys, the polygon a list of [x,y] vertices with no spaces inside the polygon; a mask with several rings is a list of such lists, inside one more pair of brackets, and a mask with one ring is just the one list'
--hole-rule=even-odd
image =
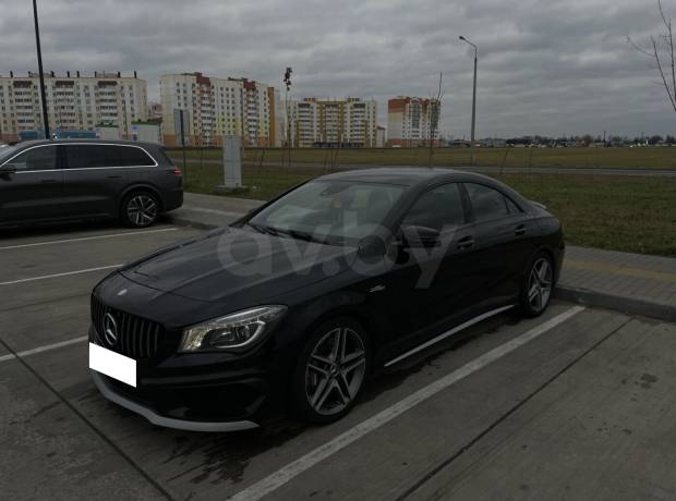
{"label": "tall white-and-yellow apartment building with reddish-brown right end", "polygon": [[186,145],[220,146],[222,136],[232,134],[241,136],[244,146],[281,146],[279,91],[268,85],[202,73],[164,75],[160,101],[166,145],[180,144],[176,117],[183,110]]}

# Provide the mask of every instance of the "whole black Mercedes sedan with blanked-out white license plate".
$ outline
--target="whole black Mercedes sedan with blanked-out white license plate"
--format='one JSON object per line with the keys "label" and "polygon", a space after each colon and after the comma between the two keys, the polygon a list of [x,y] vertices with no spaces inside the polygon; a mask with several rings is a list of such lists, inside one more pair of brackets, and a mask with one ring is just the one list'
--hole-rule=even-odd
{"label": "whole black Mercedes sedan with blanked-out white license plate", "polygon": [[502,311],[542,314],[564,249],[542,205],[483,175],[325,175],[96,285],[92,376],[160,426],[329,423],[375,371]]}

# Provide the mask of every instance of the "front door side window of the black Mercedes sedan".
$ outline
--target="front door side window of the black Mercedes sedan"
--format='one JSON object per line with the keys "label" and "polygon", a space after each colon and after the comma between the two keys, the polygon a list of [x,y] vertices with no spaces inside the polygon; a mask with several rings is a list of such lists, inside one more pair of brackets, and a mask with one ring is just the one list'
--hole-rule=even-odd
{"label": "front door side window of the black Mercedes sedan", "polygon": [[444,184],[424,193],[406,215],[402,225],[444,230],[464,224],[462,196],[457,183]]}

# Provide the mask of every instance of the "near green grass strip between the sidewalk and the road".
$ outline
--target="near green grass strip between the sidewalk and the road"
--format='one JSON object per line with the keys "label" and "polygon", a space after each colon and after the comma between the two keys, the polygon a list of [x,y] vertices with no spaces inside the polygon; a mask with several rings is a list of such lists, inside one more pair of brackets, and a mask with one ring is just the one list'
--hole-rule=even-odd
{"label": "near green grass strip between the sidewalk and the road", "polygon": [[[236,196],[269,199],[324,169],[245,167],[249,191]],[[219,166],[191,163],[186,190],[214,194]],[[570,244],[676,256],[676,179],[589,174],[504,174],[496,179],[545,204],[564,224]]]}

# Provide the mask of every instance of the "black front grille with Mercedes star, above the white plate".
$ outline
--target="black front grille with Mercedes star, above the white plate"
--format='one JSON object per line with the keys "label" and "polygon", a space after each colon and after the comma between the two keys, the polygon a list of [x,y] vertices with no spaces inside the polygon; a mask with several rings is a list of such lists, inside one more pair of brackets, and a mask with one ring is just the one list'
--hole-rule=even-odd
{"label": "black front grille with Mercedes star, above the white plate", "polygon": [[[114,319],[117,337],[106,334],[106,316]],[[157,353],[162,327],[152,320],[130,315],[102,304],[92,295],[92,323],[96,342],[131,358],[150,358]]]}

